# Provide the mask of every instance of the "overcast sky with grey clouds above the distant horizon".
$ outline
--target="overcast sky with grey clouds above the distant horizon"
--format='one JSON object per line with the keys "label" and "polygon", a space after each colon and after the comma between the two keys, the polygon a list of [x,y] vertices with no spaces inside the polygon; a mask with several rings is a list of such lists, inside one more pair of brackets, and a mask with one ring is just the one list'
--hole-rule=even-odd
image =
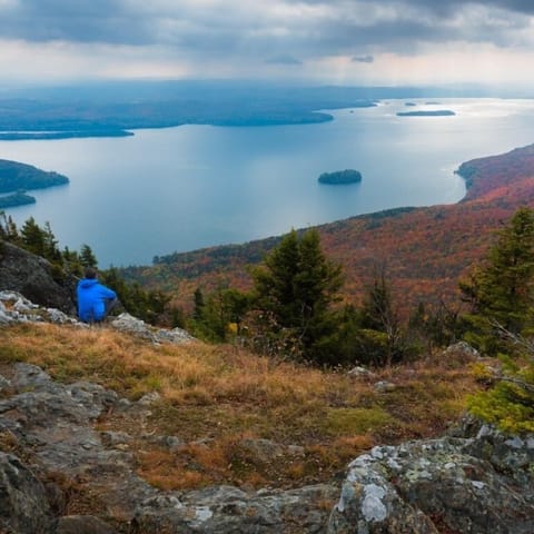
{"label": "overcast sky with grey clouds above the distant horizon", "polygon": [[0,69],[534,89],[534,0],[0,0]]}

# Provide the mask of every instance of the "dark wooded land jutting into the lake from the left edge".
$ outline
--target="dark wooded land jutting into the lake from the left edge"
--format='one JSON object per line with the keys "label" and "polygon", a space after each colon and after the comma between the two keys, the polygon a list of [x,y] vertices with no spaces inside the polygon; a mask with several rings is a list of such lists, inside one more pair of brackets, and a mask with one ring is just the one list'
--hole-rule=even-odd
{"label": "dark wooded land jutting into the lake from the left edge", "polygon": [[36,199],[26,195],[27,189],[44,189],[62,186],[69,179],[58,172],[48,172],[32,165],[0,159],[0,209],[33,204]]}

